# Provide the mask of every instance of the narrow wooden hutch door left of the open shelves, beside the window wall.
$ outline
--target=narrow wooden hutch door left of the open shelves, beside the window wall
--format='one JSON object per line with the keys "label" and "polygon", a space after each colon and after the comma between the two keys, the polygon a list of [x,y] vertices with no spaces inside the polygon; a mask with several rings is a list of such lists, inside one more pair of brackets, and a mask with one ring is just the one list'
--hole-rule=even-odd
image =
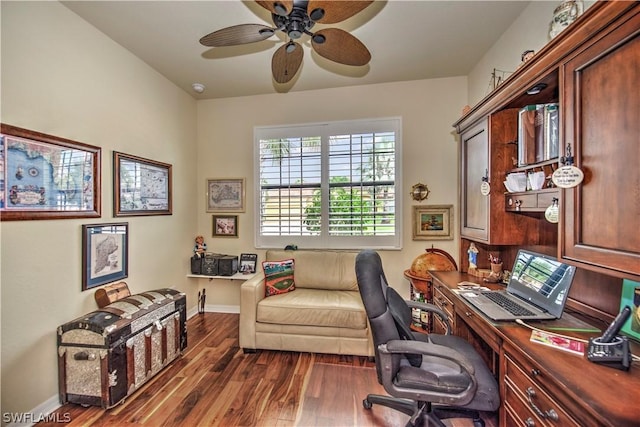
{"label": "narrow wooden hutch door left of the open shelves, beside the window wall", "polygon": [[487,120],[460,137],[462,143],[460,234],[470,239],[489,239],[489,197],[480,193],[489,173]]}

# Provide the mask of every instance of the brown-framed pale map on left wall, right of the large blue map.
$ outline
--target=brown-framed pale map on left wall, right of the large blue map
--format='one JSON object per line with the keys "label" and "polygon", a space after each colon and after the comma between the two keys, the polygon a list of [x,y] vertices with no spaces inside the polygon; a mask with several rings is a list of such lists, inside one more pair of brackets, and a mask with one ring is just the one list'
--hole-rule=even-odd
{"label": "brown-framed pale map on left wall, right of the large blue map", "polygon": [[113,152],[113,215],[171,215],[171,165]]}

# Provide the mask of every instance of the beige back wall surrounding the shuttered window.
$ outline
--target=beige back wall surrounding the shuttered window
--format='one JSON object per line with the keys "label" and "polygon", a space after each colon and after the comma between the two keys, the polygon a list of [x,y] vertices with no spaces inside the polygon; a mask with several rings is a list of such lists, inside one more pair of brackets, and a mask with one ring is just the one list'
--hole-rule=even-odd
{"label": "beige back wall surrounding the shuttered window", "polygon": [[[451,125],[466,103],[464,77],[199,101],[198,193],[202,196],[198,198],[198,232],[208,236],[210,251],[258,252],[259,259],[264,260],[264,252],[254,249],[254,126],[400,116],[404,245],[401,251],[385,251],[382,258],[391,284],[408,296],[409,283],[403,271],[426,248],[434,245],[457,259],[457,222],[454,240],[412,240],[411,206],[417,202],[411,199],[409,190],[418,182],[427,184],[431,194],[422,205],[451,204],[457,213],[458,144]],[[237,239],[211,237],[212,214],[205,212],[205,182],[207,178],[220,177],[246,178],[247,209],[239,215]],[[296,243],[295,239],[292,243]],[[199,286],[207,288],[208,301],[239,304],[237,283],[201,280]]]}

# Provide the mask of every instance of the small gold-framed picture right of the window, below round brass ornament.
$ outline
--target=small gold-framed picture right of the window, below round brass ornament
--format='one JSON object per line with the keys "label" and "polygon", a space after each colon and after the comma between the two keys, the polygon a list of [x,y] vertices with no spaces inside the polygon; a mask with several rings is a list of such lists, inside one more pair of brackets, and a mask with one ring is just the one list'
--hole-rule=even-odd
{"label": "small gold-framed picture right of the window, below round brass ornament", "polygon": [[453,205],[413,207],[413,240],[453,240]]}

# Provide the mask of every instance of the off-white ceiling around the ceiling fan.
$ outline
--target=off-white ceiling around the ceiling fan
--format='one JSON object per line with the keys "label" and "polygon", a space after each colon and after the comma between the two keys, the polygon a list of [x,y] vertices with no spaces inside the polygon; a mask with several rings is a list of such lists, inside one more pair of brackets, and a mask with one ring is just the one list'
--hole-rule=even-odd
{"label": "off-white ceiling around the ceiling fan", "polygon": [[[208,48],[198,40],[238,24],[272,25],[253,1],[63,1],[196,99],[225,98],[374,83],[464,76],[526,8],[528,1],[375,1],[334,25],[371,52],[363,67],[333,63],[312,51],[309,37],[296,77],[271,77],[282,35],[241,46]],[[194,82],[205,85],[202,94]]]}

